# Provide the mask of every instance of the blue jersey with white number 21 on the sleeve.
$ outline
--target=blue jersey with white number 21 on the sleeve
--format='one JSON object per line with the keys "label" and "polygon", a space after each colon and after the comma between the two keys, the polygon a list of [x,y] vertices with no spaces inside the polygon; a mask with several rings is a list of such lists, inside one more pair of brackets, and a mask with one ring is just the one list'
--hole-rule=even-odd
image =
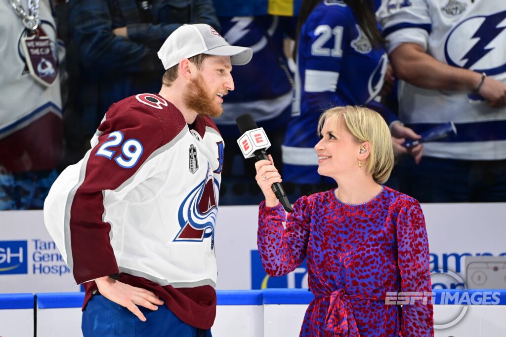
{"label": "blue jersey with white number 21 on the sleeve", "polygon": [[383,86],[388,59],[375,49],[343,1],[318,4],[302,26],[296,74],[295,117],[283,146],[283,180],[318,183],[317,124],[334,106],[373,103]]}

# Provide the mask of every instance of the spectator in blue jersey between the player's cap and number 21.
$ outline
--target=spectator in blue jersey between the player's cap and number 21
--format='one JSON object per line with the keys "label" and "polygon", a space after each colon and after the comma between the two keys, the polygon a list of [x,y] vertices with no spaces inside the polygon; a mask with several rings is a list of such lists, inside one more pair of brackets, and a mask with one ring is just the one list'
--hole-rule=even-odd
{"label": "spectator in blue jersey between the player's cap and number 21", "polygon": [[245,176],[255,175],[254,161],[244,162],[236,146],[240,134],[235,120],[244,113],[251,114],[269,136],[270,153],[281,158],[281,145],[291,117],[293,97],[293,79],[283,52],[283,42],[288,36],[294,37],[294,19],[273,15],[225,17],[220,16],[225,2],[215,0],[214,3],[223,37],[229,43],[250,47],[254,53],[251,62],[234,70],[236,90],[227,96],[227,102],[223,104],[225,113],[215,119],[225,143],[229,145],[222,172],[223,184],[228,188],[222,189],[222,202],[224,205],[251,204],[255,201],[252,198],[256,198],[258,203],[261,200],[258,185],[252,179],[251,182],[244,179]]}

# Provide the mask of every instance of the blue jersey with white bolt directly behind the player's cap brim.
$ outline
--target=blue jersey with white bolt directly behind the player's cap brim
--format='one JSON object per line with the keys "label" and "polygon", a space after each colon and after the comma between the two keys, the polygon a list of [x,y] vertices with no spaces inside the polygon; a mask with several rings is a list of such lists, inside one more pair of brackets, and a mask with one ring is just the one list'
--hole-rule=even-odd
{"label": "blue jersey with white bolt directly behind the player's cap brim", "polygon": [[235,89],[224,98],[224,114],[215,119],[221,134],[238,136],[235,119],[244,113],[251,114],[264,128],[286,125],[293,93],[278,57],[286,64],[283,38],[293,30],[292,19],[270,15],[219,19],[222,35],[230,44],[253,50],[251,61],[232,71]]}

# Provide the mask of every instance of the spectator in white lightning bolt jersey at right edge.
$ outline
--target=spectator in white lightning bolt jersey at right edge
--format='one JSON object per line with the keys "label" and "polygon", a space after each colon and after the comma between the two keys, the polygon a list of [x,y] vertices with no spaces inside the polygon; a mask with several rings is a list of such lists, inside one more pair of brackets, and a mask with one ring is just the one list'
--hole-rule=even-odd
{"label": "spectator in white lightning bolt jersey at right edge", "polygon": [[506,2],[384,1],[399,117],[417,133],[453,121],[457,135],[399,166],[420,202],[506,201]]}

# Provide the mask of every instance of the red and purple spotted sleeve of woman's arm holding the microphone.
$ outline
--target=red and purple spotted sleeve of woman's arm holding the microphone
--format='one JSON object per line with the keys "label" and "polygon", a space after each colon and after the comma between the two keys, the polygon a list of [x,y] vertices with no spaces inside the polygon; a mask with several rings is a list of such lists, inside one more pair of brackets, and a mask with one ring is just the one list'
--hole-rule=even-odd
{"label": "red and purple spotted sleeve of woman's arm holding the microphone", "polygon": [[265,202],[260,204],[257,243],[269,276],[286,275],[306,258],[310,213],[307,197],[299,198],[288,215],[285,229],[286,216],[281,204],[276,207],[266,207]]}

